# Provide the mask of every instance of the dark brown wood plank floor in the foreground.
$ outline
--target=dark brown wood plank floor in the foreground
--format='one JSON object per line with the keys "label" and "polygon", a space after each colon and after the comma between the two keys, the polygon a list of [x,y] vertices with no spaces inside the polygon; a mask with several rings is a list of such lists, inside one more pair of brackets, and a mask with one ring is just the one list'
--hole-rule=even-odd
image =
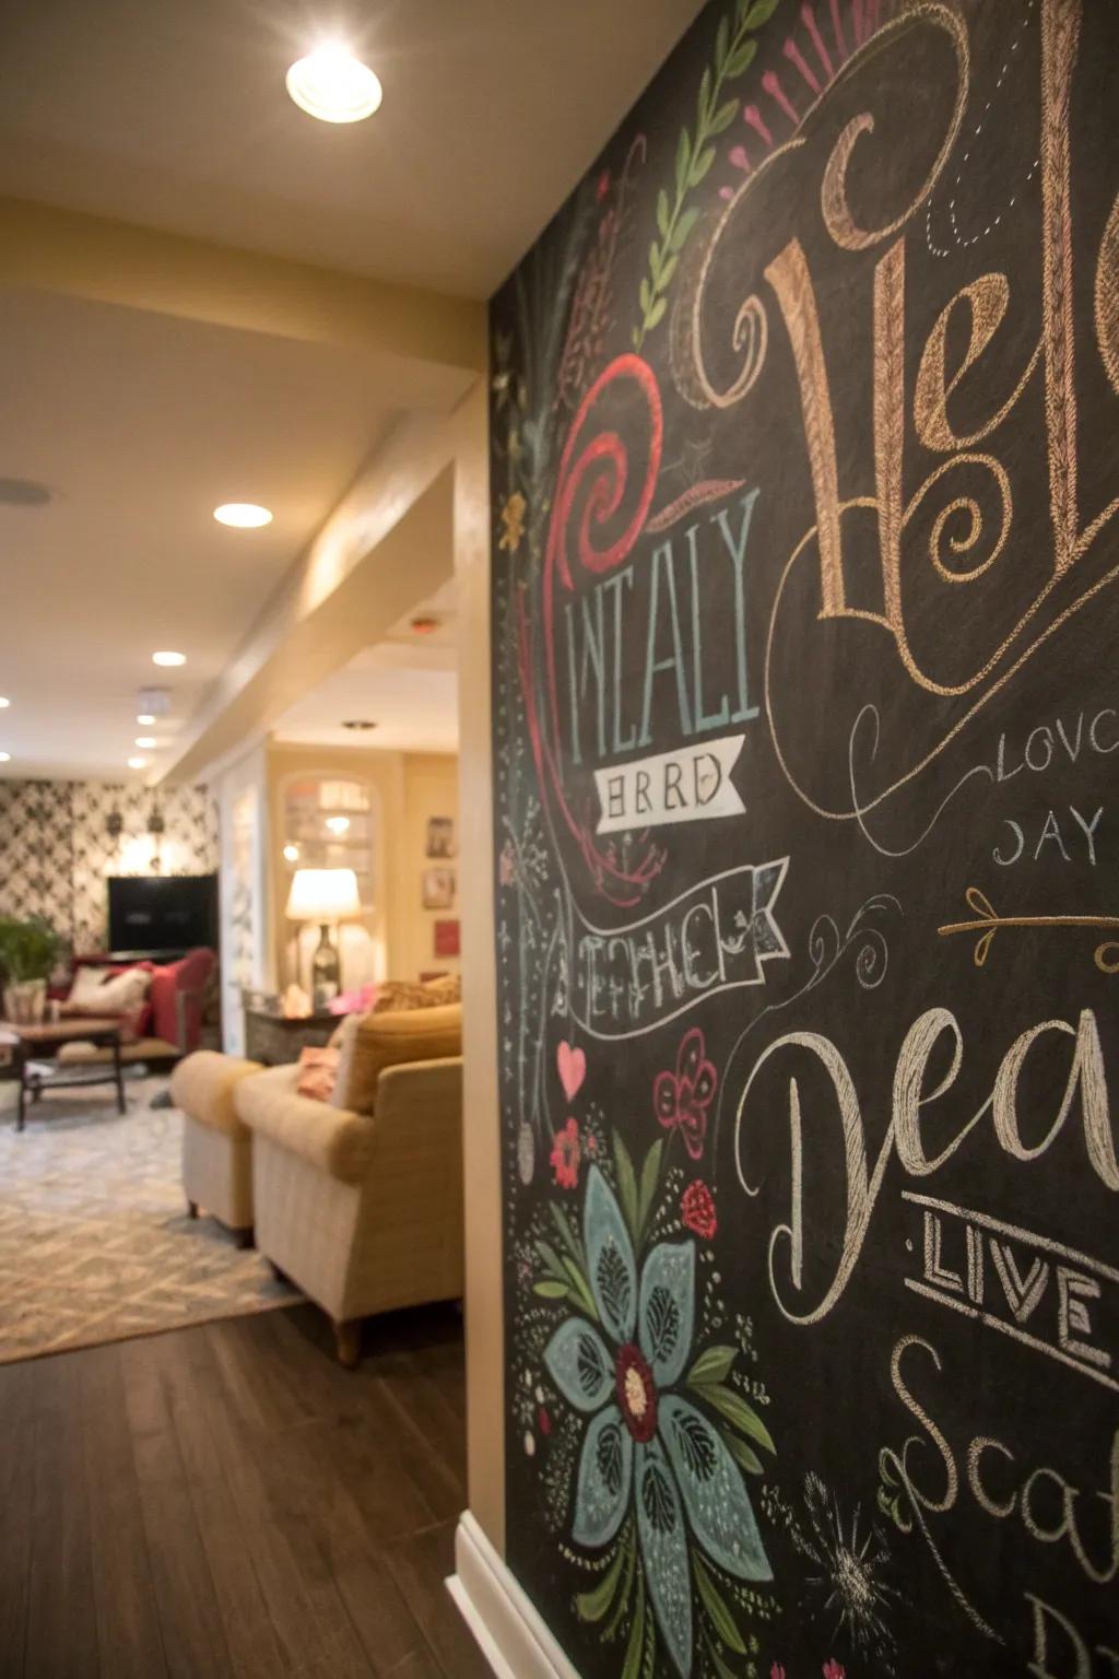
{"label": "dark brown wood plank floor in the foreground", "polygon": [[451,1310],[309,1306],[0,1368],[2,1679],[488,1679],[445,1587]]}

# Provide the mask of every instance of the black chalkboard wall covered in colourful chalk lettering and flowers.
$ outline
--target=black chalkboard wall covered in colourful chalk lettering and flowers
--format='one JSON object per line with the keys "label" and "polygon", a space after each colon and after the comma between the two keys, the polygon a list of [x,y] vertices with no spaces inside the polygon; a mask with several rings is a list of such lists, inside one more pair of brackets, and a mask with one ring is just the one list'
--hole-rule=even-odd
{"label": "black chalkboard wall covered in colourful chalk lettering and flowers", "polygon": [[1106,0],[720,0],[493,302],[508,1560],[584,1679],[1119,1674],[1117,89]]}

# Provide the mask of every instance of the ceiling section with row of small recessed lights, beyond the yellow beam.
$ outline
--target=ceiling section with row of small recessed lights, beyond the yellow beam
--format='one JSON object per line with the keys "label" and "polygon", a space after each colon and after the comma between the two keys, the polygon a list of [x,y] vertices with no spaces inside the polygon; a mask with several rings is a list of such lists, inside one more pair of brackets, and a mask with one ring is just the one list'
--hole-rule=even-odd
{"label": "ceiling section with row of small recessed lights, beyond the yellow beam", "polygon": [[[3,774],[128,776],[136,688],[181,725],[389,415],[352,351],[109,304],[0,292],[0,479],[52,490],[0,504]],[[275,522],[228,531],[226,500]]]}

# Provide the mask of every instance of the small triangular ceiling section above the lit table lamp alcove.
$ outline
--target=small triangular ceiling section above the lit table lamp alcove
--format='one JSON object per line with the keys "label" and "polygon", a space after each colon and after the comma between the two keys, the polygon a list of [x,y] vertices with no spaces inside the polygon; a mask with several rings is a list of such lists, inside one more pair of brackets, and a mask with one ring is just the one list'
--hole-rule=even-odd
{"label": "small triangular ceiling section above the lit table lamp alcove", "polygon": [[[411,620],[433,616],[418,635]],[[458,751],[456,616],[453,579],[419,601],[384,641],[366,648],[294,705],[273,739],[300,745],[361,745],[384,752]],[[347,719],[377,727],[344,729]]]}

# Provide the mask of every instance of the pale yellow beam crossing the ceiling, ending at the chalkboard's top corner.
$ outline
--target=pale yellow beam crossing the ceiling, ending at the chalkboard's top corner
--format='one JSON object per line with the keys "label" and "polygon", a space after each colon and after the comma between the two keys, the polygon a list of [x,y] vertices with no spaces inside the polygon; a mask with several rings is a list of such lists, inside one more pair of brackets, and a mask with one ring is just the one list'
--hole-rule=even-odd
{"label": "pale yellow beam crossing the ceiling, ending at the chalkboard's top corner", "polygon": [[[478,374],[487,306],[0,196],[0,285]],[[460,391],[456,391],[460,395]]]}

